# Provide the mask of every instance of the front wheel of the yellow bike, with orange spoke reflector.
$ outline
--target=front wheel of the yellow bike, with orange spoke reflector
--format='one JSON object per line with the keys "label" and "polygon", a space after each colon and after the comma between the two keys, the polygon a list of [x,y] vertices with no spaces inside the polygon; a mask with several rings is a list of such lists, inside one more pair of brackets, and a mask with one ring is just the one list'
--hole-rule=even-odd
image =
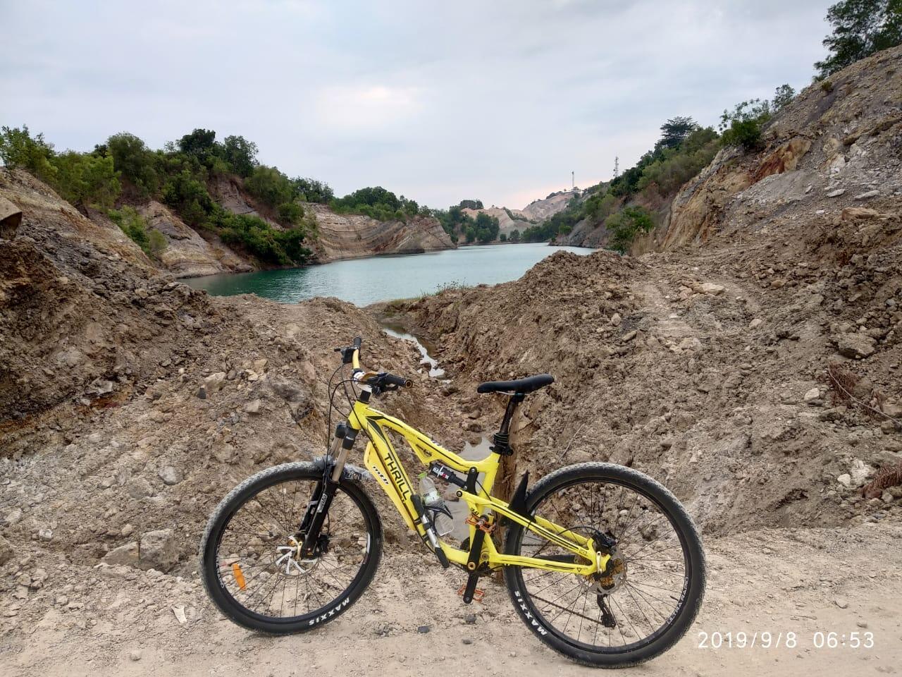
{"label": "front wheel of the yellow bike, with orange spoke reflector", "polygon": [[343,479],[314,552],[301,555],[300,524],[323,469],[287,463],[247,478],[210,517],[200,578],[216,607],[239,626],[286,635],[326,623],[373,580],[382,524],[364,488]]}

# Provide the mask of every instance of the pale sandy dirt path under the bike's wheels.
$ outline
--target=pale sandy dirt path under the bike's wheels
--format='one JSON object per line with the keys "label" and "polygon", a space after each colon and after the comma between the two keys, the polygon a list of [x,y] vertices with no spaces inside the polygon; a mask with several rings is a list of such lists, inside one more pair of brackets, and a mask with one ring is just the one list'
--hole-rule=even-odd
{"label": "pale sandy dirt path under the bike's wheels", "polygon": [[[706,543],[710,576],[689,634],[656,661],[652,675],[892,674],[902,660],[902,527],[769,530]],[[53,607],[0,646],[8,675],[454,675],[588,673],[538,642],[513,616],[505,589],[486,583],[483,604],[456,597],[461,572],[445,575],[425,555],[387,552],[373,587],[336,622],[307,635],[273,638],[232,625],[203,598],[198,581],[107,574],[77,611]],[[74,572],[87,579],[90,570]],[[130,580],[131,579],[131,580]],[[161,578],[156,579],[162,581]],[[150,606],[148,606],[150,605]],[[179,623],[172,607],[187,609]],[[472,615],[469,618],[468,615]],[[79,618],[97,625],[79,627]],[[468,622],[469,621],[469,622]],[[419,632],[428,626],[428,633]],[[736,634],[782,633],[773,648],[739,648]],[[845,646],[816,648],[815,633]],[[732,648],[700,647],[702,635],[732,633]],[[787,633],[796,645],[788,647]],[[851,633],[873,648],[852,648]],[[776,640],[774,640],[776,642]]]}

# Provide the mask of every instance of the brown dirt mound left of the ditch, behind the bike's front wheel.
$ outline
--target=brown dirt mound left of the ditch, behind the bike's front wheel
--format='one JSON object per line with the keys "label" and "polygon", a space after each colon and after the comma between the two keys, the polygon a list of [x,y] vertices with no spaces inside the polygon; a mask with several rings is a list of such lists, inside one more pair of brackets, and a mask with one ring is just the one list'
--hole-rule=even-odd
{"label": "brown dirt mound left of the ditch, behind the bike's front wheel", "polygon": [[[193,570],[229,488],[323,452],[333,348],[363,336],[367,366],[428,381],[416,348],[350,303],[210,298],[40,184],[2,177],[24,218],[0,241],[0,556]],[[433,414],[436,391],[389,406],[460,443]],[[402,526],[386,533],[406,541]],[[0,583],[21,600],[35,590]]]}

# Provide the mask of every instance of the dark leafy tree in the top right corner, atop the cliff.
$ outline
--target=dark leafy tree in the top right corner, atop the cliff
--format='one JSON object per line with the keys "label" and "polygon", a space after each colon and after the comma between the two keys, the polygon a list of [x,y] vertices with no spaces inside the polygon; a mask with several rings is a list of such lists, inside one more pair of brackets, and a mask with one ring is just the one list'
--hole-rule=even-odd
{"label": "dark leafy tree in the top right corner, atop the cliff", "polygon": [[815,79],[902,43],[902,0],[842,0],[827,10],[827,21],[833,33],[823,44],[830,53],[815,63]]}

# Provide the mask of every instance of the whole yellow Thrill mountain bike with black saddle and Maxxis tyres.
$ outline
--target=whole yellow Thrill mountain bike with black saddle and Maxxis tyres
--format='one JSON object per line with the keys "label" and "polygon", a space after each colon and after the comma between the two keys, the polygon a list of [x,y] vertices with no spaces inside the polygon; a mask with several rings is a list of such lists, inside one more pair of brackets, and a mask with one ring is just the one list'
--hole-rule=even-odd
{"label": "whole yellow Thrill mountain bike with black saddle and Maxxis tyres", "polygon": [[[686,633],[704,596],[704,552],[686,510],[658,482],[631,468],[581,463],[531,488],[524,474],[509,503],[492,496],[500,460],[512,453],[511,417],[553,377],[480,385],[480,393],[509,399],[491,453],[469,461],[370,406],[373,396],[410,381],[364,371],[360,347],[354,338],[351,347],[336,348],[342,365],[333,379],[348,365],[352,375],[335,389],[330,382],[330,407],[344,388],[350,411],[327,455],[246,479],[210,517],[200,544],[201,579],[226,617],[282,635],[344,613],[373,580],[382,554],[382,524],[364,489],[372,479],[442,567],[465,571],[465,603],[477,595],[480,577],[503,570],[526,625],[578,663],[640,663]],[[407,441],[429,476],[465,502],[469,536],[459,547],[437,535],[441,508],[419,496],[387,431]],[[357,468],[347,456],[361,433],[364,468]]]}

